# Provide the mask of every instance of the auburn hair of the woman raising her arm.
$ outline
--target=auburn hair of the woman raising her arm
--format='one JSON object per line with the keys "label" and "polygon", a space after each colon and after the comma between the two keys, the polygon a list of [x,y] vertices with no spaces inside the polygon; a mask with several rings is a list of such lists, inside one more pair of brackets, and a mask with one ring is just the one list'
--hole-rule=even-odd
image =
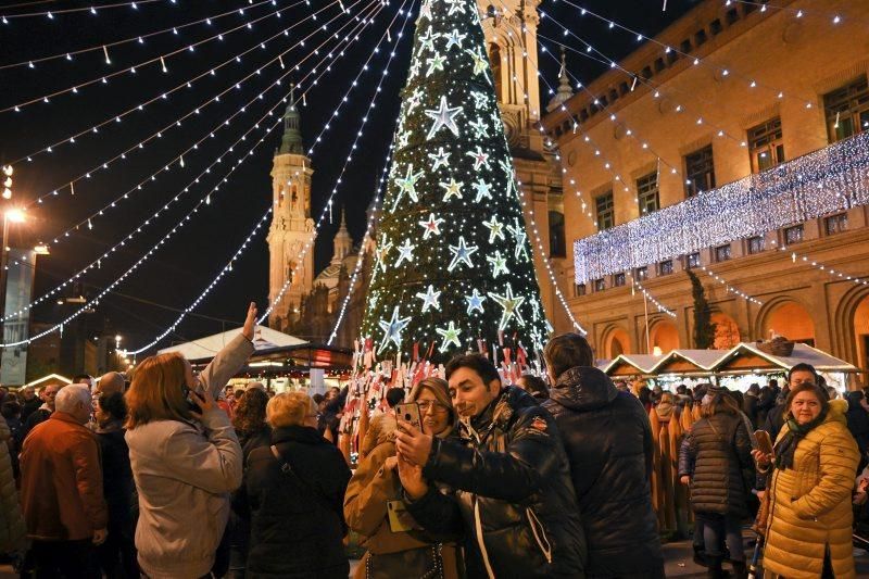
{"label": "auburn hair of the woman raising her arm", "polygon": [[177,353],[158,354],[144,358],[136,367],[126,393],[127,421],[133,430],[151,420],[189,420],[185,390],[187,360]]}

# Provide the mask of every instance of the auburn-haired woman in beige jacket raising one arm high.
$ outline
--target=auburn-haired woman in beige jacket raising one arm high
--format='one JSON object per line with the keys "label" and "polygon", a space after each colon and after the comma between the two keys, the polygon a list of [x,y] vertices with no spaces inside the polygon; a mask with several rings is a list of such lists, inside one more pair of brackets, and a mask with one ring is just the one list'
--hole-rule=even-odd
{"label": "auburn-haired woman in beige jacket raising one arm high", "polygon": [[126,441],[139,492],[136,547],[149,578],[211,572],[241,484],[241,448],[214,399],[253,353],[256,304],[241,333],[197,378],[178,353],[148,357],[125,399]]}

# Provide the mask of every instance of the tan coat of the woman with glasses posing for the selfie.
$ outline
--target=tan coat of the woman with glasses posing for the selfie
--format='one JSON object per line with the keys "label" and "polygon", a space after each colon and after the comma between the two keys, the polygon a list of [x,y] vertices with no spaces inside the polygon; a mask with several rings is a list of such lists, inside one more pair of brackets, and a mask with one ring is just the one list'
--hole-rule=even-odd
{"label": "tan coat of the woman with glasses posing for the selfie", "polygon": [[[396,531],[389,526],[388,501],[403,500],[401,482],[394,470],[383,463],[395,456],[395,419],[380,415],[362,445],[365,458],[360,463],[344,495],[344,517],[348,526],[360,533],[367,550],[356,567],[357,579],[388,579],[378,569],[402,569],[406,577],[423,577],[431,570],[432,549],[443,557],[444,578],[459,577],[455,544],[443,544],[425,531]],[[370,561],[371,574],[366,572]]]}

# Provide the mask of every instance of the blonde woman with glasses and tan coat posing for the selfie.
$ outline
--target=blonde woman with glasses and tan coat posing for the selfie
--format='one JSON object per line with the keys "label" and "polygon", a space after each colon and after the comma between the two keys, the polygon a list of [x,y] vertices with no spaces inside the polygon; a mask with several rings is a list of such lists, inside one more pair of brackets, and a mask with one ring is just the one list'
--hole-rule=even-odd
{"label": "blonde woman with glasses and tan coat posing for the selfie", "polygon": [[[439,438],[450,436],[456,423],[446,381],[426,378],[411,391],[410,402],[419,406],[423,431]],[[395,417],[378,416],[362,444],[365,458],[350,480],[344,496],[344,516],[358,532],[367,549],[356,579],[392,577],[461,576],[454,544],[417,528],[408,515],[402,515],[403,493],[395,469]],[[440,569],[440,575],[429,575]]]}

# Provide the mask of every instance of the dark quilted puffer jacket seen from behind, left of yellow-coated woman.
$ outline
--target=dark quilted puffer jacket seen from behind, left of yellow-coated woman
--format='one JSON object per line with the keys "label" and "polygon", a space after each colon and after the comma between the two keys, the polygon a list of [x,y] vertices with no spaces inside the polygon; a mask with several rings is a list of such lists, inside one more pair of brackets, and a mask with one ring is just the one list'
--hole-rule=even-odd
{"label": "dark quilted puffer jacket seen from behind, left of yellow-coated woman", "polygon": [[742,473],[752,466],[752,443],[742,417],[720,412],[701,418],[691,427],[687,451],[679,460],[679,475],[691,475],[694,512],[748,516]]}

